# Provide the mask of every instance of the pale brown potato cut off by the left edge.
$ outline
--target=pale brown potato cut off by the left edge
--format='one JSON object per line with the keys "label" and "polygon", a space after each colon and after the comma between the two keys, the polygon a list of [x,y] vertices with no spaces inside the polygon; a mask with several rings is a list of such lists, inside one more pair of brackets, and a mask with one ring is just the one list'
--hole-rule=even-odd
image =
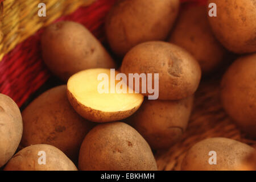
{"label": "pale brown potato cut off by the left edge", "polygon": [[18,148],[22,127],[19,107],[10,97],[0,93],[0,168]]}

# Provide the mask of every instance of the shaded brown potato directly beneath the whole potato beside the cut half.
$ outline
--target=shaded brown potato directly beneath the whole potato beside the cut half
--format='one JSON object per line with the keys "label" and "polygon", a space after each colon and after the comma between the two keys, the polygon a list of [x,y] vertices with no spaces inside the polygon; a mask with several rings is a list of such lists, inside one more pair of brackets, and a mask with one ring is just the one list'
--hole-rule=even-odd
{"label": "shaded brown potato directly beneath the whole potato beside the cut half", "polygon": [[187,128],[193,96],[178,101],[145,100],[139,110],[127,118],[154,150],[171,147]]}

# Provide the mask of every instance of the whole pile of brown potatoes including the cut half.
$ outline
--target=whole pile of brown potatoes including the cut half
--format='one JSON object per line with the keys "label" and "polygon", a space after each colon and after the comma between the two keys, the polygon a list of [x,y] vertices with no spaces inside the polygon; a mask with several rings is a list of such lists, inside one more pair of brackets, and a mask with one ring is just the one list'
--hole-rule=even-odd
{"label": "whole pile of brown potatoes including the cut half", "polygon": [[[0,168],[157,170],[152,150],[180,141],[202,74],[214,74],[230,51],[244,55],[222,78],[222,105],[256,139],[256,4],[208,4],[212,2],[217,17],[199,5],[180,11],[179,0],[118,1],[105,21],[111,53],[79,23],[47,27],[41,40],[43,59],[64,84],[41,94],[22,114],[11,98],[0,94]],[[122,59],[114,74],[124,73],[127,82],[129,73],[159,73],[158,99],[148,100],[148,90],[98,93],[101,73],[110,82],[105,89],[118,85],[109,80],[110,68],[118,68],[111,55]],[[122,89],[131,89],[126,86]],[[19,144],[22,150],[16,152]],[[208,163],[210,151],[217,153],[216,165]],[[248,160],[253,152],[236,140],[208,138],[187,152],[181,169],[255,170],[255,160]]]}

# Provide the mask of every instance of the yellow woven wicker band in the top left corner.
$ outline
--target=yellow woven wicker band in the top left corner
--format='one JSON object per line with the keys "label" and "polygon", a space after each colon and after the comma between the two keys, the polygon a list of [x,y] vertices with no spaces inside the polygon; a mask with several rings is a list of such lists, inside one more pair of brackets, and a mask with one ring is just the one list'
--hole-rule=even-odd
{"label": "yellow woven wicker band in the top left corner", "polygon": [[80,6],[95,0],[45,0],[47,16],[38,16],[40,0],[5,0],[1,3],[0,60],[18,43],[47,26],[60,16],[70,14]]}

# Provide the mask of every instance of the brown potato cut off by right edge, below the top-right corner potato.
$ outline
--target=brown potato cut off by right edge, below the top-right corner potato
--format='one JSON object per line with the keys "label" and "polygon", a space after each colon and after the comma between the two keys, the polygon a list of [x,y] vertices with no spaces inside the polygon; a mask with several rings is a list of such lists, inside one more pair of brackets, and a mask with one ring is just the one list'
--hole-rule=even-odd
{"label": "brown potato cut off by right edge, below the top-right corner potato", "polygon": [[256,139],[256,53],[234,61],[221,81],[221,101],[226,113]]}

